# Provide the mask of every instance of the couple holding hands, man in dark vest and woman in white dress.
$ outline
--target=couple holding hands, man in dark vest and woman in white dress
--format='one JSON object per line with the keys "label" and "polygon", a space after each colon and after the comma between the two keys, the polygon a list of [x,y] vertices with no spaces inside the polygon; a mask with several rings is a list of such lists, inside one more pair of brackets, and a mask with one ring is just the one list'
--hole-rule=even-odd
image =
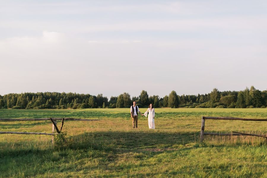
{"label": "couple holding hands, man in dark vest and woman in white dress", "polygon": [[145,117],[147,117],[147,113],[148,113],[148,127],[151,128],[151,129],[155,129],[155,121],[154,121],[154,118],[155,118],[155,110],[153,108],[153,104],[150,104],[149,105],[149,108],[147,109],[147,111],[144,114],[142,114],[139,111],[138,106],[136,106],[136,101],[133,102],[133,106],[131,106],[131,117],[133,119],[133,127],[134,128],[135,128],[134,123],[135,123],[136,128],[137,128],[138,112],[142,116],[144,115]]}

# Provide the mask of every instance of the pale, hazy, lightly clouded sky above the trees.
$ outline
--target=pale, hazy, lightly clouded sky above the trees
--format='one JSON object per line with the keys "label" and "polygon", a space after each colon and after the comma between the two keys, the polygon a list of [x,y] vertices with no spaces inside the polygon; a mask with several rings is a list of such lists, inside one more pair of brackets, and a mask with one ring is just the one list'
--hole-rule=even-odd
{"label": "pale, hazy, lightly clouded sky above the trees", "polygon": [[0,0],[0,95],[267,89],[267,1]]}

